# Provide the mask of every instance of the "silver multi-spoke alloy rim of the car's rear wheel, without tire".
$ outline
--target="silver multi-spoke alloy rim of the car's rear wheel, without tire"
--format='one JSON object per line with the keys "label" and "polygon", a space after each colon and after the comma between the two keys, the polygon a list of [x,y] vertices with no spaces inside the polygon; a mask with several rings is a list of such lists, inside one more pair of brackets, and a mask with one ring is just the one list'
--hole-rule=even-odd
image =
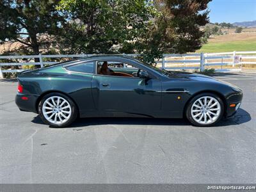
{"label": "silver multi-spoke alloy rim of the car's rear wheel, without tire", "polygon": [[71,106],[66,99],[52,96],[44,101],[42,106],[44,117],[52,124],[63,124],[71,116]]}

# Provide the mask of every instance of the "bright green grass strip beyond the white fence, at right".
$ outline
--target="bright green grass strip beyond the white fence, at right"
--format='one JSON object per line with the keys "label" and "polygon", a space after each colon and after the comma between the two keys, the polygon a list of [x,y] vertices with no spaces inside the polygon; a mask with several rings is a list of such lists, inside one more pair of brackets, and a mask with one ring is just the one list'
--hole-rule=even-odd
{"label": "bright green grass strip beyond the white fence, at right", "polygon": [[196,52],[256,51],[256,40],[208,42]]}

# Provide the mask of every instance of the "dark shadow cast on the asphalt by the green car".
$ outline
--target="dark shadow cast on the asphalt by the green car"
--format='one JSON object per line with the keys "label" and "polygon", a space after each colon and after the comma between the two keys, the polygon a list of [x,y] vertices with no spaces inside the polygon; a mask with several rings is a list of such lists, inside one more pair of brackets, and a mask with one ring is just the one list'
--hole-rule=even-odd
{"label": "dark shadow cast on the asphalt by the green car", "polygon": [[[237,114],[232,118],[227,118],[221,120],[214,127],[225,127],[228,125],[239,125],[249,122],[251,116],[244,109],[239,109]],[[40,116],[35,116],[31,122],[35,124],[44,124]],[[183,119],[174,119],[174,118],[121,118],[121,117],[98,117],[98,118],[77,118],[77,120],[69,125],[69,128],[76,127],[87,127],[91,125],[191,125],[188,120]]]}

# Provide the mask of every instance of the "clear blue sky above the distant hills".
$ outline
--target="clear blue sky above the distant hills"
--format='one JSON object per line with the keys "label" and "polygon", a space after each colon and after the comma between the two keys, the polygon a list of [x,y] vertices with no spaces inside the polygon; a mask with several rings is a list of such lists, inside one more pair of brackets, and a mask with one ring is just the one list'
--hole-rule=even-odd
{"label": "clear blue sky above the distant hills", "polygon": [[256,20],[256,0],[212,0],[209,10],[213,23]]}

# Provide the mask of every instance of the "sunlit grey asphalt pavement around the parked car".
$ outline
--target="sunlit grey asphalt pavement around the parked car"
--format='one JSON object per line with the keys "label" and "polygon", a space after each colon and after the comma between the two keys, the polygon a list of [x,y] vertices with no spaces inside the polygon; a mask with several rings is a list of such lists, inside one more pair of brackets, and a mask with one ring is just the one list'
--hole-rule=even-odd
{"label": "sunlit grey asphalt pavement around the parked car", "polygon": [[256,74],[216,75],[243,89],[234,118],[88,118],[53,129],[0,80],[0,183],[256,183]]}

